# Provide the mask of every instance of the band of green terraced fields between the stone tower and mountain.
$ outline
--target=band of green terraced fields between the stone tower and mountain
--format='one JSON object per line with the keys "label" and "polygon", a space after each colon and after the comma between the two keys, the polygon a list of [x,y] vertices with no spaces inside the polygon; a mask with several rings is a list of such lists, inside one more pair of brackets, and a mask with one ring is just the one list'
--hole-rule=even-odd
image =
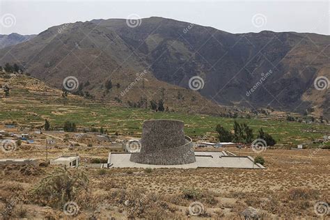
{"label": "band of green terraced fields between the stone tower and mountain", "polygon": [[[8,109],[8,107],[10,107]],[[29,102],[7,102],[0,112],[0,120],[17,121],[20,124],[42,124],[43,118],[49,118],[52,127],[61,127],[65,120],[77,124],[77,127],[104,127],[110,134],[139,136],[143,120],[176,119],[184,121],[184,131],[189,136],[216,136],[214,128],[217,124],[228,129],[233,128],[233,121],[246,123],[256,136],[262,127],[265,132],[274,136],[278,143],[295,145],[304,141],[322,138],[317,133],[329,129],[326,125],[307,125],[304,123],[288,123],[279,120],[263,120],[261,118],[221,118],[217,116],[189,115],[178,112],[153,112],[148,109],[133,109],[124,107],[105,107],[104,104],[29,104]],[[304,130],[317,132],[303,132]]]}

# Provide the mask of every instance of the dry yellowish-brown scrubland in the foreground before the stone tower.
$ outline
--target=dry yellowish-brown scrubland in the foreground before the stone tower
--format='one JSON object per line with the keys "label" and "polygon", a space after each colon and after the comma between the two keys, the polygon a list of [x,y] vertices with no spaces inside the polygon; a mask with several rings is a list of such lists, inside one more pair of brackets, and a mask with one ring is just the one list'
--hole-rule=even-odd
{"label": "dry yellowish-brown scrubland in the foreground before the stone tower", "polygon": [[[86,148],[87,149],[87,148]],[[240,155],[252,155],[249,149],[228,149]],[[52,149],[56,155],[60,150]],[[75,149],[84,159],[98,150]],[[99,155],[107,155],[100,150]],[[25,155],[29,150],[18,150]],[[329,150],[266,150],[266,170],[198,169],[93,169],[80,167],[89,179],[87,191],[72,194],[80,209],[78,219],[187,219],[189,204],[201,202],[205,210],[198,218],[244,219],[246,207],[258,209],[260,218],[317,217],[317,201],[330,201]],[[312,156],[311,156],[312,155]],[[36,152],[42,157],[42,152]],[[84,163],[82,164],[84,165]],[[61,202],[33,193],[54,167],[2,166],[0,210],[10,209],[10,217],[68,218]],[[74,170],[70,171],[74,172]]]}

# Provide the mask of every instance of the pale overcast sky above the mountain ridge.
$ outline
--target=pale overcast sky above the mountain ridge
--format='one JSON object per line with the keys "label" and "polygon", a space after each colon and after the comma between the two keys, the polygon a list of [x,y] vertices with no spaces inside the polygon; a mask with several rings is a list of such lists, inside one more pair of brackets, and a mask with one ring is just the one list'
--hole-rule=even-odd
{"label": "pale overcast sky above the mountain ridge", "polygon": [[40,33],[91,19],[168,17],[230,33],[329,33],[329,1],[28,1],[0,0],[0,34]]}

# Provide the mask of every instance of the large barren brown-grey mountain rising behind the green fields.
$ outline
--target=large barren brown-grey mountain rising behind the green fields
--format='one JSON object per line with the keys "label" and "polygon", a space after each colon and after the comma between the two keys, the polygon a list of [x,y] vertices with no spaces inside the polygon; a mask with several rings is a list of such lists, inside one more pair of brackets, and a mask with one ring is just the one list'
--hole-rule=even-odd
{"label": "large barren brown-grey mountain rising behind the green fields", "polygon": [[[54,26],[29,42],[1,49],[0,65],[18,60],[34,77],[55,86],[72,75],[88,81],[83,91],[104,99],[162,98],[173,109],[217,109],[189,89],[189,79],[199,76],[204,86],[198,92],[217,104],[330,114],[329,89],[314,86],[317,77],[330,79],[330,36],[233,34],[162,17],[136,22],[132,27],[125,19],[95,19]],[[146,80],[120,96],[143,70]],[[120,87],[108,93],[104,82],[109,79]]]}

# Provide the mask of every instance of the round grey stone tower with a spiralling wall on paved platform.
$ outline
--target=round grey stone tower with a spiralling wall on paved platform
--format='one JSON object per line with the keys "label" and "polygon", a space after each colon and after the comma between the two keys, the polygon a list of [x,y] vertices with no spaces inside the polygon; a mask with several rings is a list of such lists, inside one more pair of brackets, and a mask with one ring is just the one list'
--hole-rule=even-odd
{"label": "round grey stone tower with a spiralling wall on paved platform", "polygon": [[175,165],[196,162],[193,144],[184,136],[180,120],[146,120],[142,127],[140,152],[131,162],[139,164]]}

